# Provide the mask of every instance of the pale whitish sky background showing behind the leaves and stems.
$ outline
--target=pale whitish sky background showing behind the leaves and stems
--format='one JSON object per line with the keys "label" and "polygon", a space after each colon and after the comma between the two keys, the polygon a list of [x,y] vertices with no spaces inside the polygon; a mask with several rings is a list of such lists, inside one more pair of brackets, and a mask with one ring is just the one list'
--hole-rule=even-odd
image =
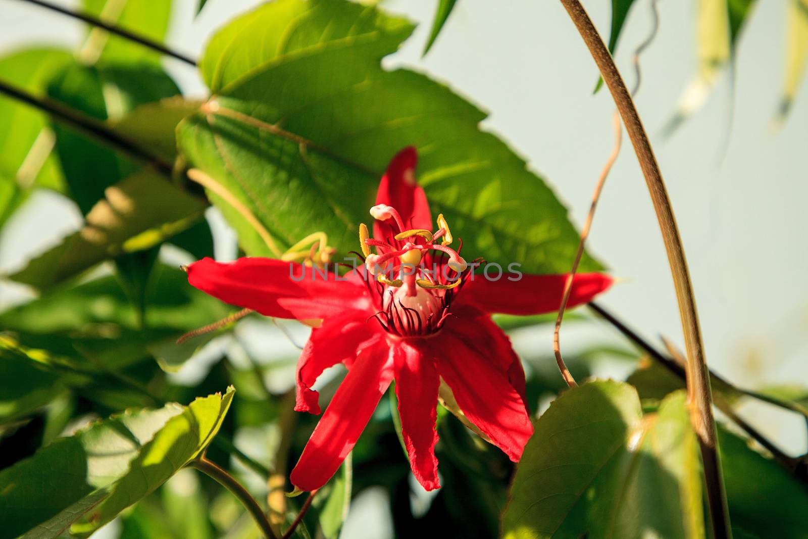
{"label": "pale whitish sky background showing behind the leaves and stems", "polygon": [[[196,0],[175,0],[167,44],[199,57],[217,27],[256,3],[209,0],[192,21]],[[608,32],[611,2],[583,3],[601,32]],[[788,2],[757,4],[739,43],[731,133],[730,78],[725,74],[696,116],[669,140],[659,136],[694,73],[695,0],[659,2],[661,27],[642,57],[637,103],[679,221],[710,366],[739,385],[808,385],[808,84],[802,85],[785,126],[774,130]],[[386,59],[388,65],[427,72],[490,111],[485,127],[510,141],[541,171],[571,208],[574,221],[582,223],[612,149],[613,103],[607,91],[591,95],[596,68],[560,2],[461,0],[425,59],[420,52],[436,1],[394,0],[385,6],[422,22],[404,48]],[[617,54],[629,86],[630,53],[649,24],[649,0],[637,0]],[[81,27],[70,19],[24,2],[0,0],[0,53],[27,44],[74,47],[81,38]],[[165,65],[187,95],[204,95],[193,69],[176,61]],[[0,271],[18,266],[78,223],[78,211],[70,203],[52,195],[35,197],[0,238]],[[224,238],[217,252],[227,253],[227,234],[217,238]],[[667,335],[681,343],[667,257],[627,139],[605,187],[590,245],[616,276],[625,278],[603,298],[604,305],[650,338]],[[5,294],[0,305],[11,301],[11,291]],[[612,334],[600,324],[583,330],[570,325],[562,345],[572,349]],[[518,348],[551,350],[549,333],[523,332],[515,341]],[[785,448],[805,451],[799,419],[764,406],[747,407],[745,413]],[[361,507],[357,503],[356,512]]]}

